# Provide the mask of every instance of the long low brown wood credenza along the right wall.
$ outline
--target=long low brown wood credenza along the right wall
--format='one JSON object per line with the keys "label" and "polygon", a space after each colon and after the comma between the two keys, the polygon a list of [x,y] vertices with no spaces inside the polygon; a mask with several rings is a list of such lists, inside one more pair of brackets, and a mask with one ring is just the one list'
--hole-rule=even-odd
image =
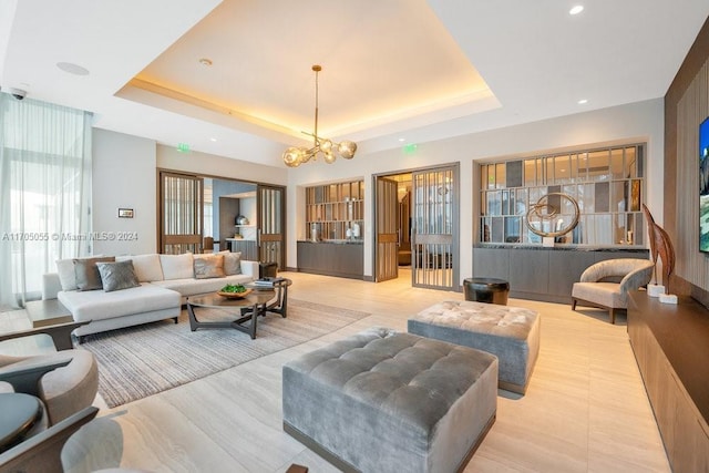
{"label": "long low brown wood credenza along the right wall", "polygon": [[709,472],[709,310],[630,294],[628,336],[675,472]]}

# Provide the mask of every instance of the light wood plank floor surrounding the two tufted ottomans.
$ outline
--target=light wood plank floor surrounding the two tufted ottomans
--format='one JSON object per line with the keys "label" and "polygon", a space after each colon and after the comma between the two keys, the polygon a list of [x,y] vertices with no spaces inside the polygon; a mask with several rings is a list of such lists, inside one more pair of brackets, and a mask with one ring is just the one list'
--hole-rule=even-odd
{"label": "light wood plank floor surrounding the two tufted ottomans", "polygon": [[[463,299],[456,292],[411,288],[407,278],[372,284],[279,275],[294,279],[294,299],[372,315],[301,346],[102,409],[102,420],[113,430],[89,435],[107,449],[96,449],[92,461],[106,467],[120,459],[123,467],[162,472],[284,472],[291,463],[314,473],[336,471],[282,432],[282,363],[371,326],[405,330],[410,315],[440,300]],[[500,391],[497,420],[465,471],[669,472],[625,316],[612,326],[607,313],[595,309],[574,312],[568,306],[522,299],[510,305],[542,315],[540,358],[526,395]]]}

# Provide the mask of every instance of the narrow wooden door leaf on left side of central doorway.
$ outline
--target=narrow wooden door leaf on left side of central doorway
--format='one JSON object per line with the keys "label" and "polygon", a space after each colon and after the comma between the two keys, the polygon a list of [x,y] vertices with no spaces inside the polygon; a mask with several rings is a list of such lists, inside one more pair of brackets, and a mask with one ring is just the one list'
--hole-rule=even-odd
{"label": "narrow wooden door leaf on left side of central doorway", "polygon": [[377,281],[399,276],[398,183],[377,178]]}

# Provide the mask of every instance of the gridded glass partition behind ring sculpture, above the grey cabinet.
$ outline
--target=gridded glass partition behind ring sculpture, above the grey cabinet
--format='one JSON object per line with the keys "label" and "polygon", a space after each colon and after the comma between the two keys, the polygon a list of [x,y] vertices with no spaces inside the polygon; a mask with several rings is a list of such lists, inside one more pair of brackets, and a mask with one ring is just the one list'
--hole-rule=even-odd
{"label": "gridded glass partition behind ring sculpture, above the grey cabinet", "polygon": [[[561,192],[578,203],[580,215],[556,243],[643,246],[644,150],[631,144],[481,164],[479,241],[541,244],[527,227],[527,213]],[[569,202],[561,199],[558,207],[561,218],[573,217]]]}

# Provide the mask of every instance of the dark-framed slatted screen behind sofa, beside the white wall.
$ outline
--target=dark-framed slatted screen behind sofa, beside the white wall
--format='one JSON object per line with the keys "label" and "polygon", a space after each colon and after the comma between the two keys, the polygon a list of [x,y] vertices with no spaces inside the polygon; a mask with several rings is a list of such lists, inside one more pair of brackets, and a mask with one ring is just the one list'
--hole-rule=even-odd
{"label": "dark-framed slatted screen behind sofa, beside the white wall", "polygon": [[161,172],[161,253],[202,253],[202,177]]}

